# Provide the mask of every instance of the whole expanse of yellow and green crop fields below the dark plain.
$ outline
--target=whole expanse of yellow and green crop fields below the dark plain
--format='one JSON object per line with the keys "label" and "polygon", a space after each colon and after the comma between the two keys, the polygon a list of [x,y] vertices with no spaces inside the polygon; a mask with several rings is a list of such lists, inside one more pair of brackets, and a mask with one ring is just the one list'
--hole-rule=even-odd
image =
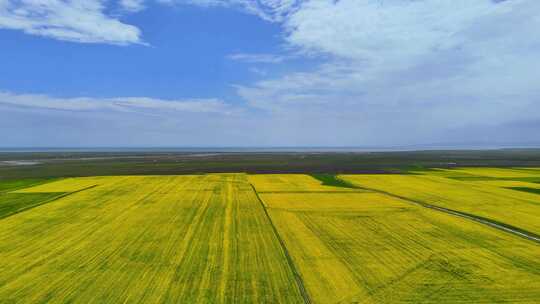
{"label": "whole expanse of yellow and green crop fields below the dark plain", "polygon": [[[0,303],[539,303],[539,170],[0,182]],[[422,203],[422,204],[419,204]],[[516,228],[516,229],[517,229]]]}

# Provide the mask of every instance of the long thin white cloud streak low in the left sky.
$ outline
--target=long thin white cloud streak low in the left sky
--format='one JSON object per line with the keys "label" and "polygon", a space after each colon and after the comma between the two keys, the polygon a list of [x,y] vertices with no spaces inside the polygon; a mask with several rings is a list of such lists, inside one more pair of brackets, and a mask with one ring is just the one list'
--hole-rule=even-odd
{"label": "long thin white cloud streak low in the left sky", "polygon": [[14,94],[0,92],[0,104],[66,111],[147,111],[191,112],[191,113],[221,113],[230,114],[235,110],[219,99],[183,99],[164,100],[148,97],[115,97],[115,98],[56,98],[37,94]]}

